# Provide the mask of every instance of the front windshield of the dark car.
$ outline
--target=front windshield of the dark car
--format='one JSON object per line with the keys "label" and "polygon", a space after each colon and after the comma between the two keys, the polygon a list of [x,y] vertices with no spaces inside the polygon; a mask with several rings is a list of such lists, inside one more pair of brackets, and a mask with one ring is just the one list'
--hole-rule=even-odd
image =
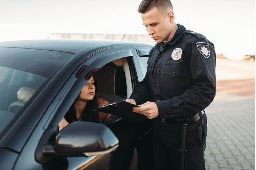
{"label": "front windshield of the dark car", "polygon": [[0,47],[0,133],[39,87],[74,56],[57,51]]}

